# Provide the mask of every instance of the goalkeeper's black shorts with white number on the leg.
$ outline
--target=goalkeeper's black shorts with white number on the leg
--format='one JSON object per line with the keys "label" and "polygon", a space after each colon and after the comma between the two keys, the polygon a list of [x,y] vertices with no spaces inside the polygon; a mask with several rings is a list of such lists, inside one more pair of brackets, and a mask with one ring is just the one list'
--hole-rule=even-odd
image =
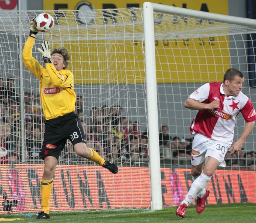
{"label": "goalkeeper's black shorts with white number on the leg", "polygon": [[54,156],[59,159],[67,139],[73,146],[78,142],[86,143],[81,120],[74,112],[45,121],[41,158]]}

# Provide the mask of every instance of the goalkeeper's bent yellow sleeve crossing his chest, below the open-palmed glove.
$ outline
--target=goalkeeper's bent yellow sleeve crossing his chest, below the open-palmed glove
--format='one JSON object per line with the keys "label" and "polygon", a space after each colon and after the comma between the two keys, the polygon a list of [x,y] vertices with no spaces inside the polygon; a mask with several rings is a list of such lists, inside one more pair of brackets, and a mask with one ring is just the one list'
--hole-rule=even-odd
{"label": "goalkeeper's bent yellow sleeve crossing his chest, below the open-palmed glove", "polygon": [[74,76],[70,70],[58,72],[52,63],[46,63],[45,66],[51,78],[51,82],[53,82],[56,87],[73,87]]}

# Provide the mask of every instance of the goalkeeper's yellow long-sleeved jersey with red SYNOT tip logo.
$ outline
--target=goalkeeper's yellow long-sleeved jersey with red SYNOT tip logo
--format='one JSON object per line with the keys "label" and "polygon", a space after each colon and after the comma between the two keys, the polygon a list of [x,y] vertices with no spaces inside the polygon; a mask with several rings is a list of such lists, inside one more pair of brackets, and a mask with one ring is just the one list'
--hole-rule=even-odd
{"label": "goalkeeper's yellow long-sleeved jersey with red SYNOT tip logo", "polygon": [[27,39],[23,49],[23,62],[40,82],[40,97],[45,119],[49,120],[75,111],[74,76],[70,70],[57,71],[52,63],[45,68],[32,57],[35,38]]}

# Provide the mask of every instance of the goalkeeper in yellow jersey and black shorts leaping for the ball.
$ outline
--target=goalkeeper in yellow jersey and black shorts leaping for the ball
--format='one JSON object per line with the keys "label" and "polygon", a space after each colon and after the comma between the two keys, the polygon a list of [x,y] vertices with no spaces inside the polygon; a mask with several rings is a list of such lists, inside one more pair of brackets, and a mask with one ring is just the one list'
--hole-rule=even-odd
{"label": "goalkeeper in yellow jersey and black shorts leaping for the ball", "polygon": [[77,155],[98,163],[113,174],[118,172],[118,168],[86,145],[81,120],[74,113],[76,95],[73,74],[66,69],[70,58],[67,49],[55,48],[50,52],[50,43],[43,42],[42,49],[38,48],[38,51],[44,58],[45,67],[32,57],[35,37],[39,31],[35,28],[34,20],[30,22],[30,34],[23,49],[23,62],[40,82],[41,104],[45,116],[44,142],[40,152],[44,160],[44,173],[41,182],[42,211],[36,219],[49,219],[55,168],[67,139],[73,144]]}

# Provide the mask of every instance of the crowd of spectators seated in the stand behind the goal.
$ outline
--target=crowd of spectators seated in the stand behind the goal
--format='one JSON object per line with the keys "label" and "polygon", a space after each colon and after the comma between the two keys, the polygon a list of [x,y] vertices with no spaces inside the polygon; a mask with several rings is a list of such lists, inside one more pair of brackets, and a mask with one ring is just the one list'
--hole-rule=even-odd
{"label": "crowd of spectators seated in the stand behind the goal", "polygon": [[[39,159],[43,141],[44,115],[39,95],[24,93],[24,123],[26,137],[26,160]],[[20,97],[15,92],[12,78],[0,78],[0,163],[20,159],[21,154],[21,110]],[[89,120],[84,120],[83,97],[77,96],[76,113],[80,116],[87,138],[87,146],[110,160],[136,160],[146,162],[148,156],[148,134],[141,132],[139,121],[132,122],[122,116],[121,106],[92,108]],[[159,130],[161,162],[172,165],[190,165],[192,138],[171,136],[169,126]],[[5,152],[6,150],[6,152]],[[75,159],[70,143],[66,144],[62,158]],[[5,155],[6,154],[6,155]],[[225,160],[233,169],[255,170],[256,151],[227,152]]]}

